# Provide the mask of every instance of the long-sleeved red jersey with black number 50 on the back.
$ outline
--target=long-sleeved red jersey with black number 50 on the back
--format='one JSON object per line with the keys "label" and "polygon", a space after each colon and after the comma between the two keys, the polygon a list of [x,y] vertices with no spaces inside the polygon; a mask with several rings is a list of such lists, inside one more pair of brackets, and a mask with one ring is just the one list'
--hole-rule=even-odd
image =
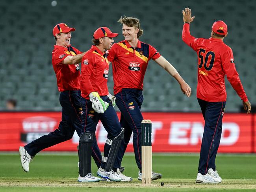
{"label": "long-sleeved red jersey with black number 50 on the back", "polygon": [[208,102],[226,101],[226,75],[243,102],[248,101],[229,46],[221,39],[193,37],[188,23],[183,25],[182,40],[198,55],[197,98]]}

